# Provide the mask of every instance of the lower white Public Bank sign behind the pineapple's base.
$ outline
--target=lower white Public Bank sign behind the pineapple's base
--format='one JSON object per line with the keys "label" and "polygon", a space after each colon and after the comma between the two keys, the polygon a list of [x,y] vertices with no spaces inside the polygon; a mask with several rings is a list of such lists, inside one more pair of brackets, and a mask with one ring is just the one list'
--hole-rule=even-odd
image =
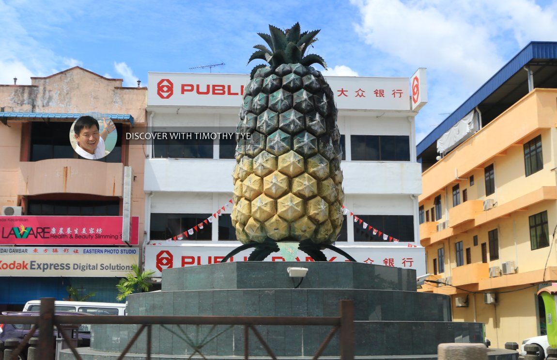
{"label": "lower white Public Bank sign behind the pineapple's base", "polygon": [[[153,245],[155,244],[155,245]],[[160,245],[159,245],[160,244]],[[153,276],[161,276],[164,269],[172,267],[187,267],[197,265],[216,264],[237,245],[227,244],[219,246],[203,245],[164,245],[167,241],[152,241],[145,247],[145,269],[154,270]],[[337,244],[338,245],[338,244]],[[402,267],[404,269],[414,269],[417,274],[425,274],[426,266],[424,259],[424,248],[414,247],[411,244],[406,246],[388,247],[368,247],[368,246],[339,246],[348,252],[350,256],[358,262],[366,264],[383,265],[391,267]],[[247,261],[251,253],[250,250],[241,251],[231,257],[229,261]],[[348,261],[344,256],[331,250],[324,250],[328,261]],[[286,261],[279,252],[266,257],[265,261]],[[305,252],[297,251],[295,261],[313,261]]]}

